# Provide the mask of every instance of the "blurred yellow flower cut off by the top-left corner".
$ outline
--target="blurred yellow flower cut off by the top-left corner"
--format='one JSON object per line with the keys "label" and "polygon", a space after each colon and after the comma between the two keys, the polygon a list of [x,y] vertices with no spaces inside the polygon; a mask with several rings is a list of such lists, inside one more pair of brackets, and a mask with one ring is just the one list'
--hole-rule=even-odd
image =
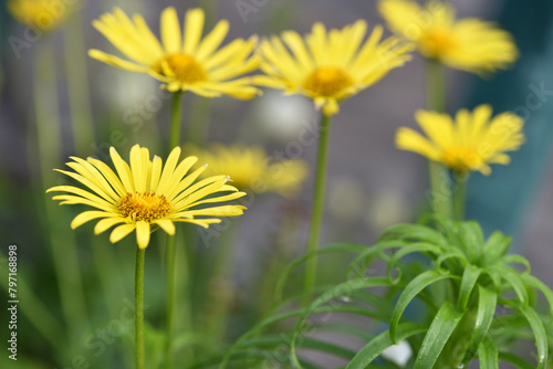
{"label": "blurred yellow flower cut off by the top-left corner", "polygon": [[64,0],[8,0],[8,10],[18,22],[50,32],[67,18],[74,4]]}

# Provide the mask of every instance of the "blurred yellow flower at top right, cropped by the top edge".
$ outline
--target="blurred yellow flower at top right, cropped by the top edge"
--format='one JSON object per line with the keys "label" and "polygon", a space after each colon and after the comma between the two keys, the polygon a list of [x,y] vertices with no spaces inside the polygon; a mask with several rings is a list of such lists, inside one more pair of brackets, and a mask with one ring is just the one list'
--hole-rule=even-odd
{"label": "blurred yellow flower at top right, cropped by the top edge", "polygon": [[453,7],[431,0],[380,0],[378,9],[388,27],[429,57],[472,73],[505,68],[519,56],[513,38],[494,23],[476,18],[456,20]]}

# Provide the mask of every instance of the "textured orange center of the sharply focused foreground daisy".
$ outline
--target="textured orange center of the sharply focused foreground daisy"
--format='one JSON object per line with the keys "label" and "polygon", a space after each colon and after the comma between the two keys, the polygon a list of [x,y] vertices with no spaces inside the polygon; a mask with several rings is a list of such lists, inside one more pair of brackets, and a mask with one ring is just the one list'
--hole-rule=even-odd
{"label": "textured orange center of the sharply focused foreground daisy", "polygon": [[155,192],[128,192],[119,200],[117,209],[125,218],[131,218],[135,222],[146,221],[148,223],[173,213],[173,207],[165,196],[157,196]]}

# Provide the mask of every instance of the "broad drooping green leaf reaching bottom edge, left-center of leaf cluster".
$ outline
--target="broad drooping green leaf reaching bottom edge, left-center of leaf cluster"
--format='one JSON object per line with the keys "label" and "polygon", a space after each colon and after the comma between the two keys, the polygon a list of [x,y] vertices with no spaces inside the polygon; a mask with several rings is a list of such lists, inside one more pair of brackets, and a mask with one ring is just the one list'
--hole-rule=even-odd
{"label": "broad drooping green leaf reaching bottom edge, left-center of leaf cluster", "polygon": [[449,337],[465,315],[453,304],[447,302],[439,309],[422,340],[414,369],[434,368]]}

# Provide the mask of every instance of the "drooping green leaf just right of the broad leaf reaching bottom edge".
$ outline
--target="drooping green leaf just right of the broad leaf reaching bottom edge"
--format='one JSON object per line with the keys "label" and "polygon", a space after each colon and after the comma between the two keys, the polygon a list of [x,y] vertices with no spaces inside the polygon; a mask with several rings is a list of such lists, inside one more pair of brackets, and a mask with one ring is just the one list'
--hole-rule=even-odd
{"label": "drooping green leaf just right of the broad leaf reaching bottom edge", "polygon": [[490,329],[491,323],[493,321],[493,315],[495,314],[497,304],[498,294],[493,291],[482,287],[481,285],[478,285],[478,312],[469,346],[462,359],[462,363],[465,366],[468,365],[470,360],[472,360],[480,346],[480,342],[488,335],[488,330]]}

